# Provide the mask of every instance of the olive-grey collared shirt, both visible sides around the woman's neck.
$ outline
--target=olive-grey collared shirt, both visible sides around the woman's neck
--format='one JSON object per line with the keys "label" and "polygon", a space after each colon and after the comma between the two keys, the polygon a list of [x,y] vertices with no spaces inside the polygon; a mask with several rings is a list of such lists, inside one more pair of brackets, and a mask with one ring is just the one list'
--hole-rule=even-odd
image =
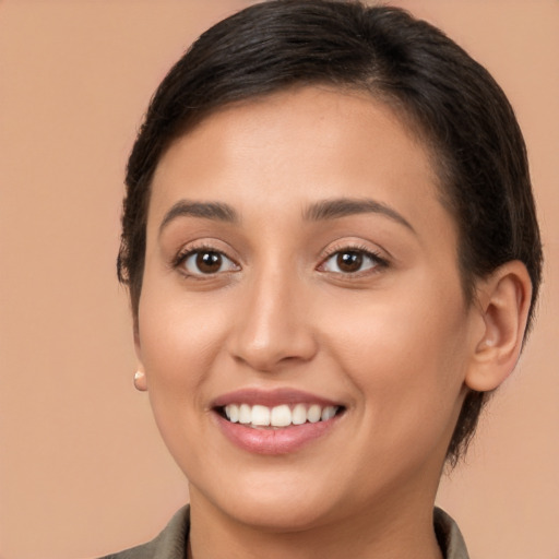
{"label": "olive-grey collared shirt, both visible sides around the woman's neck", "polygon": [[[435,533],[444,559],[468,559],[466,544],[456,523],[441,509],[433,513]],[[100,559],[186,559],[190,509],[183,507],[155,538],[141,546]]]}

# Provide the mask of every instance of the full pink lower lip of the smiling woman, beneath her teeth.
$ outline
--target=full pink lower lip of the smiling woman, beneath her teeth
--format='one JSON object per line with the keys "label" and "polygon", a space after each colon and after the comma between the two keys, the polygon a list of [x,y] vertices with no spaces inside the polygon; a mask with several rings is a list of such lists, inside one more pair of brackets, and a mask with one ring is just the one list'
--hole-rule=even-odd
{"label": "full pink lower lip of the smiling woman, beneath her teeth", "polygon": [[336,424],[338,416],[316,424],[290,425],[280,428],[253,428],[233,424],[215,413],[222,432],[237,447],[255,454],[288,454],[302,449],[326,435]]}

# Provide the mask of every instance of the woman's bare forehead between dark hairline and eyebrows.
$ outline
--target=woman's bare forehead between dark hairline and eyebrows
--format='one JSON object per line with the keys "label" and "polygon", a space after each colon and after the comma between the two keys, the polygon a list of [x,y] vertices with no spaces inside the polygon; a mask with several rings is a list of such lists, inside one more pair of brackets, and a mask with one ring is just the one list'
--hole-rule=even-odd
{"label": "woman's bare forehead between dark hairline and eyebrows", "polygon": [[440,210],[427,146],[364,92],[312,86],[226,106],[176,140],[153,180],[151,218],[180,198],[300,207],[316,199],[374,198]]}

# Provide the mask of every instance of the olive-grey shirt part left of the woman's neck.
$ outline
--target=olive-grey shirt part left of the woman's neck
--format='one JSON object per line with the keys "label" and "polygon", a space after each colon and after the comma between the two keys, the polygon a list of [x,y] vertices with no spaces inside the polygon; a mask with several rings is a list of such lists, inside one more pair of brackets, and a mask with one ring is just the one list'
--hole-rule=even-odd
{"label": "olive-grey shirt part left of the woman's neck", "polygon": [[180,509],[163,532],[146,544],[99,559],[183,559],[190,528],[189,506]]}

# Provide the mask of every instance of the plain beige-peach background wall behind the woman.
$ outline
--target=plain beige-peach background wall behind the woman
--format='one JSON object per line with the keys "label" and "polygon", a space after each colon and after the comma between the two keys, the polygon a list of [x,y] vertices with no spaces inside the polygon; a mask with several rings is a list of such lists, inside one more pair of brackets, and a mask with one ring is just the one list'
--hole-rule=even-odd
{"label": "plain beige-peach background wall behind the woman", "polygon": [[[186,500],[132,389],[115,277],[126,158],[167,68],[233,0],[0,1],[0,557],[151,538]],[[472,558],[559,558],[559,2],[402,0],[495,74],[547,252],[537,330],[440,502]]]}

